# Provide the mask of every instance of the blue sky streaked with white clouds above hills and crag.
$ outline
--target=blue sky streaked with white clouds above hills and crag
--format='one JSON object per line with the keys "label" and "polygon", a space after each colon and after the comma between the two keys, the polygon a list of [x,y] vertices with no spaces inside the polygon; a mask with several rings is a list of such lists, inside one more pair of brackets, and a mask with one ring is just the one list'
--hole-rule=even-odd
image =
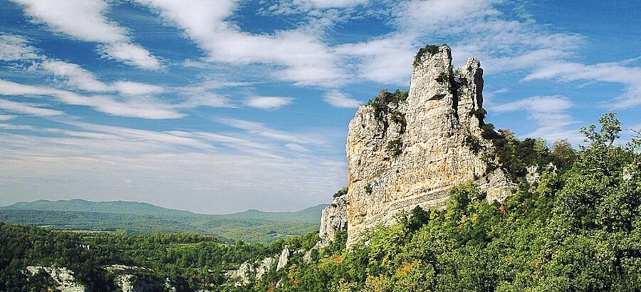
{"label": "blue sky streaked with white clouds above hills and crag", "polygon": [[128,200],[293,211],[347,184],[358,105],[447,43],[486,122],[641,128],[636,1],[0,0],[0,205]]}

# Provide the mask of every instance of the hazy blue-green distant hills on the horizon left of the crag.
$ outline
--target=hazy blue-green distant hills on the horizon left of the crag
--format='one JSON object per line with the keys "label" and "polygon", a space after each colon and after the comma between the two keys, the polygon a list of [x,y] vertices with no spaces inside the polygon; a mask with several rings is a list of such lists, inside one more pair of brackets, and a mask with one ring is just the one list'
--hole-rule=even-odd
{"label": "hazy blue-green distant hills on the horizon left of the crag", "polygon": [[0,221],[51,229],[114,231],[125,234],[194,232],[221,240],[269,243],[318,230],[325,204],[298,212],[248,210],[210,215],[142,202],[91,202],[83,199],[19,202],[0,207]]}

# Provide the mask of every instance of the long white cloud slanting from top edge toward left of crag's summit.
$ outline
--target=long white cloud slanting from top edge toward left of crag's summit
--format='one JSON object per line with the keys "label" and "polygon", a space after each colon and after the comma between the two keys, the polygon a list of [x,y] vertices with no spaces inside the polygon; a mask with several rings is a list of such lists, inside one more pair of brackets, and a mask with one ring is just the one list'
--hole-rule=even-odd
{"label": "long white cloud slanting from top edge toward left of crag's summit", "polygon": [[209,61],[264,63],[285,66],[275,76],[298,85],[331,86],[347,75],[328,46],[303,30],[251,34],[225,21],[236,9],[236,1],[140,0],[159,11],[163,19],[182,28],[189,38],[207,51]]}

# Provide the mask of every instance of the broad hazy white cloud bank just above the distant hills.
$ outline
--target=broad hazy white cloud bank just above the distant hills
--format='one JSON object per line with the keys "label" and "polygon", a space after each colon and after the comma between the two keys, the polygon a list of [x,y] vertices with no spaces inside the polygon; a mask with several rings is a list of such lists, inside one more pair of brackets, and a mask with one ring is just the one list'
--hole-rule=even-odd
{"label": "broad hazy white cloud bank just above the distant hills", "polygon": [[[0,160],[9,174],[0,177],[5,186],[0,197],[29,185],[48,198],[135,198],[197,212],[247,207],[282,211],[285,205],[302,209],[326,202],[328,194],[345,182],[343,162],[319,155],[288,155],[288,147],[276,147],[277,140],[55,120],[67,124],[65,130],[32,129],[48,135],[0,131]],[[237,145],[241,150],[224,150],[220,145]],[[132,185],[121,185],[125,179]],[[181,196],[175,196],[178,193]],[[39,196],[28,193],[23,199]]]}

